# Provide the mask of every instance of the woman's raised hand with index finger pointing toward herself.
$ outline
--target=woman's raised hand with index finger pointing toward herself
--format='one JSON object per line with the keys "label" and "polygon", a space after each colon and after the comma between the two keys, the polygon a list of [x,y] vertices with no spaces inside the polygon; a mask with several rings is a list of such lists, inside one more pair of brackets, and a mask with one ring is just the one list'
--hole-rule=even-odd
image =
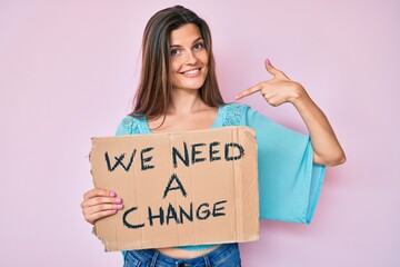
{"label": "woman's raised hand with index finger pointing toward herself", "polygon": [[278,107],[284,102],[293,102],[306,92],[304,88],[299,82],[289,79],[282,71],[276,69],[268,59],[266,59],[264,65],[267,71],[272,75],[272,79],[262,81],[239,92],[234,97],[236,100],[254,92],[260,92],[269,105]]}

